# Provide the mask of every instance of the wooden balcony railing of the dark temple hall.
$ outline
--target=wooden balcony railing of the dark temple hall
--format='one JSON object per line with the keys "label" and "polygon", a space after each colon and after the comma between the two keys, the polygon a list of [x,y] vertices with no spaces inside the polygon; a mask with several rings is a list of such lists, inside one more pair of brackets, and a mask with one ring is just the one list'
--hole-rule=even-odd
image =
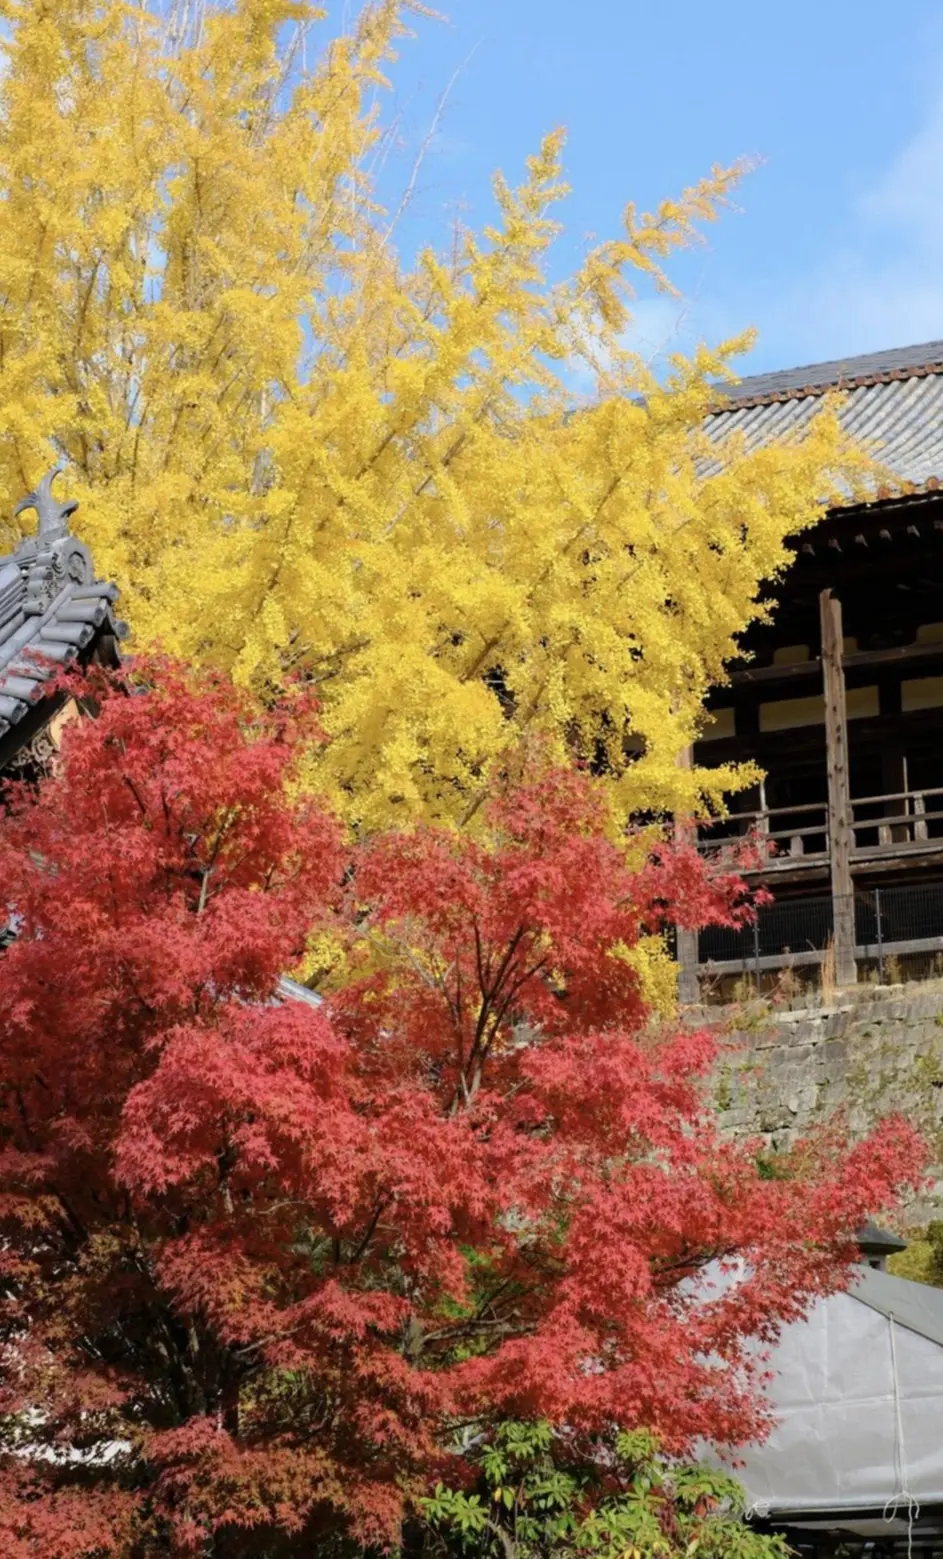
{"label": "wooden balcony railing of the dark temple hall", "polygon": [[[751,837],[768,853],[770,868],[796,862],[821,864],[829,857],[829,809],[825,801],[731,812],[698,829],[698,848],[712,854]],[[853,857],[943,850],[943,787],[865,795],[851,801]]]}

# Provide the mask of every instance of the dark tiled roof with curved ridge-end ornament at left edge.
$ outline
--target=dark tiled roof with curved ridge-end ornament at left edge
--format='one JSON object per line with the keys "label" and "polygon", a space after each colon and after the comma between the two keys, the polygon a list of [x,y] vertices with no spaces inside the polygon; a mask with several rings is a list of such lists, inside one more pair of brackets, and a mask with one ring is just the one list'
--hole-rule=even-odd
{"label": "dark tiled roof with curved ridge-end ornament at left edge", "polygon": [[51,496],[56,475],[59,468],[17,505],[17,514],[36,510],[36,535],[0,557],[0,737],[69,661],[115,664],[128,631],[112,613],[115,586],[95,578],[89,549],[69,530],[78,505]]}

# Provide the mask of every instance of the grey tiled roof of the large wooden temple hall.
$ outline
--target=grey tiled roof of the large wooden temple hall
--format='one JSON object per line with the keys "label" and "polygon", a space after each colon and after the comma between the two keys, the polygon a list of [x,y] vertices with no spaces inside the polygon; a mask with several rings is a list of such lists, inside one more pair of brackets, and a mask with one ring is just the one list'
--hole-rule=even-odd
{"label": "grey tiled roof of the large wooden temple hall", "polygon": [[828,390],[843,391],[842,424],[888,468],[892,491],[943,485],[943,341],[743,379],[720,391],[708,432],[742,432],[751,447],[795,437]]}

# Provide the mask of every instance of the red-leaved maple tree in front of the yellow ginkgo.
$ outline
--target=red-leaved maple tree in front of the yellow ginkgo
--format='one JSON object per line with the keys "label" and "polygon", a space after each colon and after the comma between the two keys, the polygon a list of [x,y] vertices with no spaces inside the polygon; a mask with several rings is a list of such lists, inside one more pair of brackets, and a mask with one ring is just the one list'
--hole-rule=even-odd
{"label": "red-leaved maple tree in front of the yellow ginkgo", "polygon": [[[748,1339],[843,1281],[920,1144],[768,1179],[719,1138],[717,1041],[655,1026],[627,954],[739,879],[628,870],[561,772],[479,839],[346,848],[291,786],[309,702],[145,670],[0,823],[8,1559],[383,1545],[510,1416],[758,1433]],[[318,926],[320,1007],[279,995]]]}

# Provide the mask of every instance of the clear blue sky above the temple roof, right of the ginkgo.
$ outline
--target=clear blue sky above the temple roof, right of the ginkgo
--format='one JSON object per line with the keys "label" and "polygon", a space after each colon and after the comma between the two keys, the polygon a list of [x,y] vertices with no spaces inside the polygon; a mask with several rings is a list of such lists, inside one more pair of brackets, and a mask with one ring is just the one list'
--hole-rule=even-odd
{"label": "clear blue sky above the temple roof, right of the ginkgo", "polygon": [[[739,210],[642,296],[647,355],[756,326],[743,371],[943,337],[943,6],[929,0],[443,0],[394,67],[390,193],[422,161],[401,242],[479,224],[544,131],[569,134],[561,270],[712,162],[764,159]],[[355,14],[335,0],[337,25]]]}

